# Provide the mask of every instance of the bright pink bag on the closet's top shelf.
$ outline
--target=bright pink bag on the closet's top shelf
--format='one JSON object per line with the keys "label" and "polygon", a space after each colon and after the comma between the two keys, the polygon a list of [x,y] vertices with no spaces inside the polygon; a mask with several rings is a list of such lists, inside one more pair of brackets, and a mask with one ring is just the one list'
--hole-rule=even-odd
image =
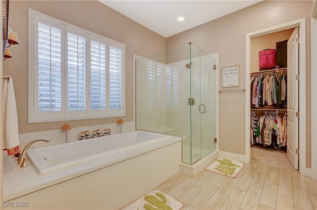
{"label": "bright pink bag on the closet's top shelf", "polygon": [[261,70],[274,69],[276,64],[275,49],[264,49],[259,52],[259,66]]}

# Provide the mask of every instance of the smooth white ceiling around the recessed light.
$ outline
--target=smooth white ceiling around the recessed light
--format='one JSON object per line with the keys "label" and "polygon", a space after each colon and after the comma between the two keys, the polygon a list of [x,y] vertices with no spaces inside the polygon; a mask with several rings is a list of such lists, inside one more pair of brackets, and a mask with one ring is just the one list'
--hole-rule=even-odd
{"label": "smooth white ceiling around the recessed light", "polygon": [[[167,38],[261,0],[99,0]],[[185,17],[182,22],[178,17]]]}

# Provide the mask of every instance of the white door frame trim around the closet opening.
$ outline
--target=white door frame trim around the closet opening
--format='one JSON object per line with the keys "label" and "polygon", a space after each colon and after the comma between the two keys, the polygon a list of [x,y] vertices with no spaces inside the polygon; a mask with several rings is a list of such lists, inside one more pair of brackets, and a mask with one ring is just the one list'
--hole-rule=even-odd
{"label": "white door frame trim around the closet opening", "polygon": [[255,38],[262,35],[267,35],[291,28],[299,27],[299,74],[300,74],[300,84],[299,84],[299,171],[302,175],[306,175],[306,18],[294,20],[288,23],[280,24],[277,26],[272,26],[259,31],[251,32],[246,34],[246,69],[245,69],[245,154],[246,163],[250,162],[250,98],[251,98],[251,88],[250,88],[250,55],[251,55],[251,38]]}

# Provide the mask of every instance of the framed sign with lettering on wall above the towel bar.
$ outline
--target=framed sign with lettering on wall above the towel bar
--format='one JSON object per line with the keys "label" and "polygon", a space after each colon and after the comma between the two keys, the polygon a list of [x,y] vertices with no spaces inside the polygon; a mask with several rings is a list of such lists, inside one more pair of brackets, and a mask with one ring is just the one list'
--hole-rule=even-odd
{"label": "framed sign with lettering on wall above the towel bar", "polygon": [[222,68],[221,73],[222,87],[236,87],[240,86],[240,67],[228,66]]}

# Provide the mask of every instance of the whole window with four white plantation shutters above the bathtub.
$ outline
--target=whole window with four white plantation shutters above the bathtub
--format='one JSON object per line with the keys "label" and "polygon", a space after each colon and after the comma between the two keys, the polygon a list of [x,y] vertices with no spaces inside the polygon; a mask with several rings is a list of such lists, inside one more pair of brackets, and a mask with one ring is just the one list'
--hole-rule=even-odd
{"label": "whole window with four white plantation shutters above the bathtub", "polygon": [[29,123],[125,115],[125,45],[29,9]]}

